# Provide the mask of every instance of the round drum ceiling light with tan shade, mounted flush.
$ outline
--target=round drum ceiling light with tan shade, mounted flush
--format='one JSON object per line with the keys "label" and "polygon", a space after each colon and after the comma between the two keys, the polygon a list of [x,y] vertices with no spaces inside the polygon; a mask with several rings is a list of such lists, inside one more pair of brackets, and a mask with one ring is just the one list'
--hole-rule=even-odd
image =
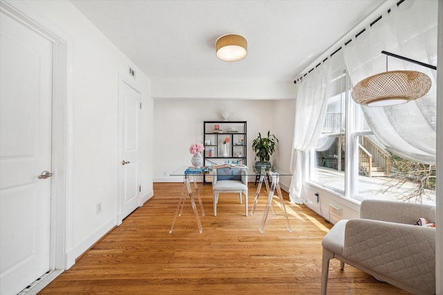
{"label": "round drum ceiling light with tan shade, mounted flush", "polygon": [[239,61],[248,54],[248,41],[240,35],[223,35],[215,41],[217,57],[224,61]]}

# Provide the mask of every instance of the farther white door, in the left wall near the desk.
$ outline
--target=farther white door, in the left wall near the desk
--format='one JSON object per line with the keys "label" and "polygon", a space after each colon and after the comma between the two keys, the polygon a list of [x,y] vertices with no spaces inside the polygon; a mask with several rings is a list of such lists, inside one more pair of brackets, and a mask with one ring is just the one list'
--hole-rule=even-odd
{"label": "farther white door, in the left wall near the desk", "polygon": [[141,94],[126,82],[120,82],[120,212],[118,220],[140,205],[139,131]]}

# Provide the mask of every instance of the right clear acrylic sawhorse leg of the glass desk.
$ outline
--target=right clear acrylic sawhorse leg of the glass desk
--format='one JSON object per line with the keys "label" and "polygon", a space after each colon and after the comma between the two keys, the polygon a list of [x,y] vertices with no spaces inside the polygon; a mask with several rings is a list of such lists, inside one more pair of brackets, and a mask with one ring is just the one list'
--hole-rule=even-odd
{"label": "right clear acrylic sawhorse leg of the glass desk", "polygon": [[[266,218],[268,218],[269,213],[269,207],[272,207],[272,211],[275,215],[275,209],[272,204],[272,198],[275,190],[277,190],[278,198],[280,199],[280,206],[282,207],[284,221],[286,222],[286,227],[289,232],[292,232],[291,225],[289,224],[289,219],[286,212],[286,207],[284,207],[284,200],[282,195],[282,190],[280,189],[280,175],[278,173],[269,172],[269,175],[272,177],[272,183],[271,188],[269,188],[269,183],[267,178],[264,178],[263,175],[260,175],[260,182],[262,182],[262,178],[264,178],[264,183],[266,184],[266,189],[268,191],[268,200],[266,202],[266,207],[264,208],[263,218],[262,218],[262,224],[260,225],[260,233],[263,234],[264,232],[264,225],[266,224]],[[259,184],[260,186],[260,184]],[[255,210],[255,204],[258,200],[258,194],[260,191],[257,191],[257,195],[255,196],[254,204],[253,204],[253,210]],[[253,212],[251,211],[251,215],[253,215]]]}

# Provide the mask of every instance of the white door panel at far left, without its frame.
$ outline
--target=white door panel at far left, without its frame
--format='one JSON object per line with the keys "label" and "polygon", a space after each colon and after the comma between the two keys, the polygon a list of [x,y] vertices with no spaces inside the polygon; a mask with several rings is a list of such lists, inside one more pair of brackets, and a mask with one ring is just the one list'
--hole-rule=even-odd
{"label": "white door panel at far left, without its frame", "polygon": [[52,44],[0,13],[0,294],[50,269]]}

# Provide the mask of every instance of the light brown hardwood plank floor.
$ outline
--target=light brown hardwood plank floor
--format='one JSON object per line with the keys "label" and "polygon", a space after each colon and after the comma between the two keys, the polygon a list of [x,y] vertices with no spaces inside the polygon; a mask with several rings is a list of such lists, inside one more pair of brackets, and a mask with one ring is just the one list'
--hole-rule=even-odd
{"label": "light brown hardwood plank floor", "polygon": [[[222,194],[213,216],[210,184],[199,186],[206,216],[199,234],[190,202],[168,234],[182,184],[154,183],[154,197],[39,294],[320,294],[320,242],[332,225],[305,206],[280,207],[258,228],[265,196],[244,216],[237,194]],[[256,187],[249,184],[249,212]],[[285,200],[289,200],[284,193]],[[200,209],[199,209],[200,211]],[[328,294],[408,294],[331,260]]]}

